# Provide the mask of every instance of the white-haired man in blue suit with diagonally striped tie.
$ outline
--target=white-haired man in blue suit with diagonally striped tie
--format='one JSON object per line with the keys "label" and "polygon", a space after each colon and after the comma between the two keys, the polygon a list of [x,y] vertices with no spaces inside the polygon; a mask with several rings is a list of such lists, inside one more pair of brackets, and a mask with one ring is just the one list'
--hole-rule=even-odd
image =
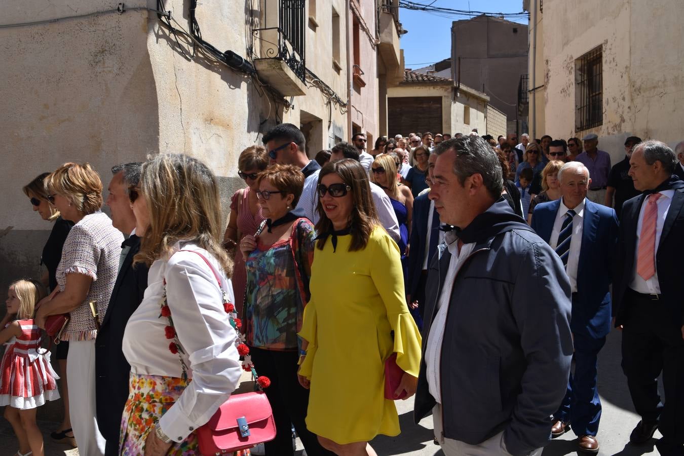
{"label": "white-haired man in blue suit with diagonally striped tie", "polygon": [[618,239],[614,209],[586,198],[589,170],[570,161],[558,172],[562,198],[538,204],[531,226],[560,256],[573,291],[570,330],[575,345],[575,375],[553,415],[552,436],[572,426],[579,451],[598,453],[601,399],[596,390],[597,356],[610,332],[612,256]]}

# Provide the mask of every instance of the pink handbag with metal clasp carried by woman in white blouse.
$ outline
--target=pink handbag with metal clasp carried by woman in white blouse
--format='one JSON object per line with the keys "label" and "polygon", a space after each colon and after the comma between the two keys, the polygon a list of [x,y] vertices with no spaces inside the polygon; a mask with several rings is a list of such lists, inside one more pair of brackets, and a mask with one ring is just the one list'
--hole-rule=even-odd
{"label": "pink handbag with metal clasp carried by woman in white blouse", "polygon": [[233,453],[276,438],[271,405],[263,392],[235,394],[196,431],[205,456]]}

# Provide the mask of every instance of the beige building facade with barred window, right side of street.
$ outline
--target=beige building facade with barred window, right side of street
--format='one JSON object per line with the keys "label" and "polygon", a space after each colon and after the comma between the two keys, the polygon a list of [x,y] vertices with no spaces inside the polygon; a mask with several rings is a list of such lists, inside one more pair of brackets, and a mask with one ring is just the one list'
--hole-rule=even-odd
{"label": "beige building facade with barred window, right side of street", "polygon": [[529,34],[531,135],[596,133],[613,163],[629,135],[670,145],[684,139],[681,1],[541,6],[529,1],[530,23],[537,24]]}

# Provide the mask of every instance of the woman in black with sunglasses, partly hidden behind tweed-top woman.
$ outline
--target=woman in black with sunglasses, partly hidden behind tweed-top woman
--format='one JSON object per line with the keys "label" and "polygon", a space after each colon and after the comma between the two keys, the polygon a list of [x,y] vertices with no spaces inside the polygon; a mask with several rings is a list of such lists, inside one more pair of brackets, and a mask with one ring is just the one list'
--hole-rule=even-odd
{"label": "woman in black with sunglasses, partly hidden behind tweed-top woman", "polygon": [[[47,200],[47,192],[45,191],[45,178],[49,176],[49,172],[44,172],[31,180],[23,187],[24,194],[29,198],[31,207],[38,212],[40,218],[53,222],[52,230],[47,242],[43,246],[42,255],[40,256],[40,264],[44,265],[47,271],[44,272],[41,280],[44,285],[49,286],[49,291],[57,288],[57,266],[62,260],[62,247],[64,241],[74,226],[73,222],[64,219],[60,215],[60,211],[55,209],[55,206],[50,204]],[[74,433],[71,429],[71,418],[69,413],[69,392],[66,376],[66,356],[69,352],[69,343],[62,342],[55,346],[55,356],[57,364],[60,366],[60,383],[62,384],[62,403],[64,404],[64,417],[62,423],[57,430],[50,434],[52,440],[55,442],[68,443],[71,446],[76,446]]]}

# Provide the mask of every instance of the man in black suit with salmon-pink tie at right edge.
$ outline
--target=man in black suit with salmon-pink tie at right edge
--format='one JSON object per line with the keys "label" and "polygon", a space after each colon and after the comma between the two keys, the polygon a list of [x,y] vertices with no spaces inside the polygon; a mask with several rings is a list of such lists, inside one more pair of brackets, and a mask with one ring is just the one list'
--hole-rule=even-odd
{"label": "man in black suit with salmon-pink tie at right edge", "polygon": [[622,371],[642,418],[629,440],[644,443],[659,428],[660,454],[684,455],[684,182],[673,175],[679,163],[662,142],[638,144],[629,163],[643,194],[622,206],[613,288]]}

